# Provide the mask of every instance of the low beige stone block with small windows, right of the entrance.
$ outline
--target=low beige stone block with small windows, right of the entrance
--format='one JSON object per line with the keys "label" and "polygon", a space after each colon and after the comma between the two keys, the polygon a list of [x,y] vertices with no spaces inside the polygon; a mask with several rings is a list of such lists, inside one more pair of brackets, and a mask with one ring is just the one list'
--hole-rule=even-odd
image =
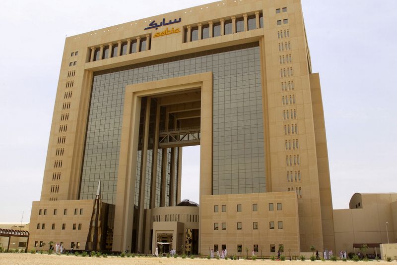
{"label": "low beige stone block with small windows, right of the entrance", "polygon": [[[274,210],[269,211],[269,203]],[[282,210],[277,210],[277,203],[282,204]],[[253,204],[257,204],[258,211],[253,211]],[[214,206],[218,212],[214,212]],[[222,212],[222,205],[226,212]],[[241,205],[241,212],[237,212],[237,205]],[[201,253],[212,249],[214,244],[226,245],[228,255],[237,254],[237,245],[242,245],[243,254],[248,248],[251,254],[254,244],[259,245],[259,253],[265,256],[270,253],[270,244],[274,244],[276,252],[278,245],[284,245],[284,252],[291,250],[291,255],[300,252],[298,203],[295,193],[273,192],[254,194],[234,194],[203,196],[201,198]],[[278,229],[278,222],[282,222],[282,229]],[[222,230],[222,223],[226,229]],[[242,229],[237,229],[237,222],[241,222]],[[258,222],[258,230],[253,229],[253,222]],[[274,222],[274,229],[269,229],[269,222]],[[219,224],[214,230],[214,223]]]}

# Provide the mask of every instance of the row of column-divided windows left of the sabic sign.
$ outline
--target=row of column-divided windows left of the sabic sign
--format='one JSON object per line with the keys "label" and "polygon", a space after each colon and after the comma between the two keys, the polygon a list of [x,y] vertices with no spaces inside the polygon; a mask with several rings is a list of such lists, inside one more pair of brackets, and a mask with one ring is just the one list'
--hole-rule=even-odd
{"label": "row of column-divided windows left of the sabic sign", "polygon": [[127,41],[119,41],[118,44],[101,45],[98,48],[91,48],[90,61],[97,61],[116,56],[126,55],[130,53],[138,53],[150,50],[150,35],[136,39],[128,39]]}

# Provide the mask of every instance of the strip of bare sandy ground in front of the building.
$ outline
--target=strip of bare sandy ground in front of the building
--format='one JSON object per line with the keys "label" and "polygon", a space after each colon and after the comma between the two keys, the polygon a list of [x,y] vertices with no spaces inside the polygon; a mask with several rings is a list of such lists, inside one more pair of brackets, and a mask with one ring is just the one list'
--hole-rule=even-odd
{"label": "strip of bare sandy ground in front of the building", "polygon": [[[311,261],[270,261],[270,260],[256,260],[256,261],[232,261],[232,260],[216,260],[216,259],[182,259],[182,258],[94,258],[94,257],[75,257],[66,255],[48,255],[48,254],[14,254],[14,253],[0,253],[0,265],[286,265],[294,263],[294,265],[313,265]],[[315,263],[323,263],[316,261]],[[326,265],[332,265],[334,262],[326,261]],[[341,265],[341,261],[336,262]],[[358,265],[364,265],[364,262],[359,262]],[[379,263],[386,265],[385,261],[366,262],[365,265],[375,265]],[[393,261],[392,264],[396,264]],[[354,262],[347,261],[343,265],[353,265]],[[357,263],[356,263],[357,264]],[[321,265],[321,264],[318,264]]]}

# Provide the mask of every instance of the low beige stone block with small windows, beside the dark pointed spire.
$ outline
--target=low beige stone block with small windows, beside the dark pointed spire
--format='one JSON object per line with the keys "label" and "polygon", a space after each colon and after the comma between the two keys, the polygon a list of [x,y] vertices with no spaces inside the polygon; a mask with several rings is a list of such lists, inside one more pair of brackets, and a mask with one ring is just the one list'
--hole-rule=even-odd
{"label": "low beige stone block with small windows, beside the dark pointed spire", "polygon": [[[70,249],[71,242],[77,245],[80,243],[81,250],[85,249],[89,225],[92,216],[94,200],[73,200],[73,201],[39,201],[33,202],[32,212],[30,215],[30,238],[28,249],[41,249],[39,247],[40,241],[46,243],[44,250],[48,250],[48,242],[64,242],[64,248]],[[57,210],[54,214],[54,210]],[[66,214],[64,211],[66,209]],[[75,214],[77,209],[77,214]],[[82,214],[80,214],[82,209]],[[39,214],[39,211],[41,214]],[[46,214],[44,214],[44,210]],[[45,228],[42,229],[43,223]],[[52,224],[55,224],[55,229],[52,229]],[[66,224],[65,230],[62,225]],[[39,224],[40,229],[37,229]],[[76,229],[73,229],[73,224],[76,224]],[[81,224],[81,230],[78,230],[78,224]],[[35,241],[38,246],[35,247]],[[77,247],[74,247],[77,249]]]}

